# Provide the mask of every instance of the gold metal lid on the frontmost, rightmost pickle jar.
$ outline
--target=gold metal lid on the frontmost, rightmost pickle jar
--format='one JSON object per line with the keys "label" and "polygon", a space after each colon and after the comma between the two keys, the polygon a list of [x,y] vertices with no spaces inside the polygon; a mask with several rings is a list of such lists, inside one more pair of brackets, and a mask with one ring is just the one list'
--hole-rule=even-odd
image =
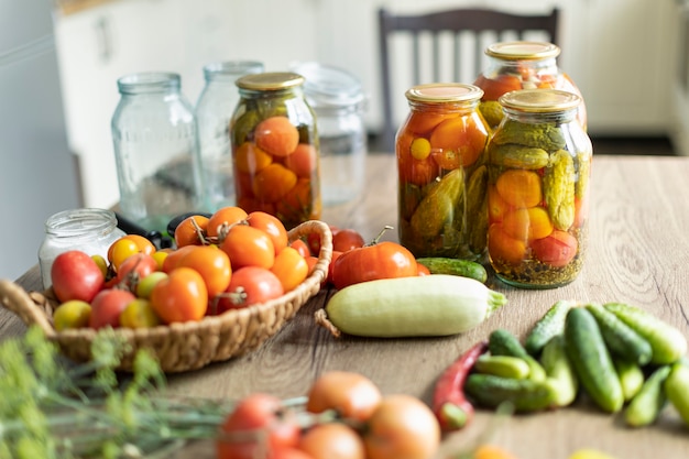
{"label": "gold metal lid on the frontmost, rightmost pickle jar", "polygon": [[576,109],[581,97],[559,89],[520,89],[497,99],[505,109],[525,113],[554,113]]}

